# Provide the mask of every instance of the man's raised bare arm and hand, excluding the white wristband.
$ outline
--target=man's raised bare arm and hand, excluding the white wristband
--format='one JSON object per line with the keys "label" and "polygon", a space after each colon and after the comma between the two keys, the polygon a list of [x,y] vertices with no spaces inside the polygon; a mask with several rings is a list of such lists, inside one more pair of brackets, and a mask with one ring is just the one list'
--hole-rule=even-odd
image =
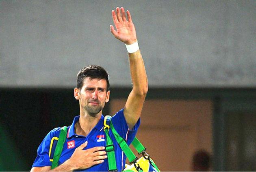
{"label": "man's raised bare arm and hand, excluding the white wristband", "polygon": [[[116,30],[114,26],[110,25],[110,31],[115,38],[126,45],[131,45],[137,42],[137,36],[130,12],[126,11],[126,14],[123,7],[121,9],[117,7],[116,12],[112,11]],[[143,103],[148,92],[148,79],[140,50],[128,53],[128,55],[133,86],[124,107],[124,117],[129,128],[132,129],[141,116]]]}

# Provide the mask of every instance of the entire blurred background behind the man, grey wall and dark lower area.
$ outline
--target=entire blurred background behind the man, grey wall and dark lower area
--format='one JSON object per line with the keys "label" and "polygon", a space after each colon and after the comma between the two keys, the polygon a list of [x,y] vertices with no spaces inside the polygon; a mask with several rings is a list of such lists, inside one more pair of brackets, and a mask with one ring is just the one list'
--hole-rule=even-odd
{"label": "entire blurred background behind the man, grey wall and dark lower area", "polygon": [[162,171],[256,171],[255,0],[0,0],[0,170],[29,171],[37,147],[79,114],[76,74],[132,88],[111,10],[132,15],[149,91],[137,137]]}

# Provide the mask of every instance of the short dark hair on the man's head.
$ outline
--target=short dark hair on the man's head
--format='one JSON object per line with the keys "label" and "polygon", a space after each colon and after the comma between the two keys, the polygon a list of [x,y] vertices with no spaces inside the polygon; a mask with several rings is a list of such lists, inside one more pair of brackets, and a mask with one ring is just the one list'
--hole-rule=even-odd
{"label": "short dark hair on the man's head", "polygon": [[85,80],[86,77],[90,77],[91,79],[103,79],[106,80],[107,82],[107,91],[109,89],[109,76],[107,71],[98,65],[88,65],[86,67],[83,67],[82,69],[80,69],[80,71],[77,74],[77,80],[76,80],[76,84],[77,84],[77,88],[81,89],[83,86],[83,82]]}

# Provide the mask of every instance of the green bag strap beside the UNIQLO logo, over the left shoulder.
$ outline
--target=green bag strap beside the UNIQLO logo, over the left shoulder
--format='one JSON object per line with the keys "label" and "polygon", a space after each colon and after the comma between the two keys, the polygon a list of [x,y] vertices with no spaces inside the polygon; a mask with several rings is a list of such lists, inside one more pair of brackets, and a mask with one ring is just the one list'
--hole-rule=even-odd
{"label": "green bag strap beside the UNIQLO logo, over the left shoulder", "polygon": [[56,145],[56,148],[55,148],[55,151],[54,151],[53,161],[52,161],[52,169],[59,166],[58,162],[59,162],[59,159],[60,159],[60,156],[61,156],[63,145],[66,141],[66,138],[67,138],[67,127],[64,126],[64,127],[61,128],[61,132],[60,132],[60,135],[59,135],[59,140],[57,142],[57,145]]}

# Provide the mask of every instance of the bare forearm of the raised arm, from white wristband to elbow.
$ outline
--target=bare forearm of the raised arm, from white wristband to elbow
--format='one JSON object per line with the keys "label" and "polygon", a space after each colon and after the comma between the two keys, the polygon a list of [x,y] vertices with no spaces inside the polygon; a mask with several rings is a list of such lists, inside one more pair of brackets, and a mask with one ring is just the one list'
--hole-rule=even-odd
{"label": "bare forearm of the raised arm, from white wristband to elbow", "polygon": [[148,78],[140,50],[128,53],[130,61],[130,73],[132,78],[132,91],[135,95],[145,96],[148,92]]}

